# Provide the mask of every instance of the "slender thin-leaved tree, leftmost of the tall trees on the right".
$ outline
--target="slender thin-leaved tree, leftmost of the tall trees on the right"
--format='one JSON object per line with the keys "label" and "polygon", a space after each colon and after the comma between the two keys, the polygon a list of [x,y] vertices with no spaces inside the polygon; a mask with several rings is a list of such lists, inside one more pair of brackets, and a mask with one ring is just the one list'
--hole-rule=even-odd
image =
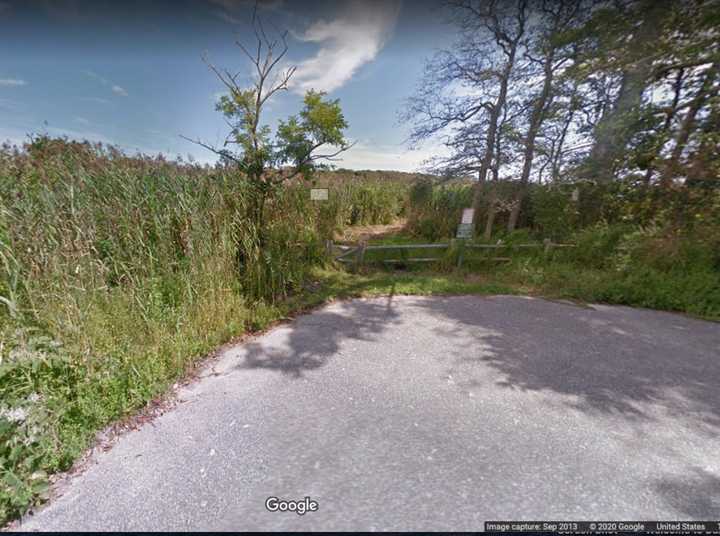
{"label": "slender thin-leaved tree, leftmost of the tall trees on the right", "polygon": [[[451,0],[447,7],[458,39],[426,62],[419,88],[400,119],[412,124],[413,144],[444,137],[452,154],[434,160],[436,171],[477,174],[473,206],[479,213],[486,202],[481,185],[489,177],[499,178],[506,161],[503,147],[513,141],[511,117],[518,113],[518,99],[511,97],[530,2]],[[495,199],[488,204],[486,236],[495,221]]]}

